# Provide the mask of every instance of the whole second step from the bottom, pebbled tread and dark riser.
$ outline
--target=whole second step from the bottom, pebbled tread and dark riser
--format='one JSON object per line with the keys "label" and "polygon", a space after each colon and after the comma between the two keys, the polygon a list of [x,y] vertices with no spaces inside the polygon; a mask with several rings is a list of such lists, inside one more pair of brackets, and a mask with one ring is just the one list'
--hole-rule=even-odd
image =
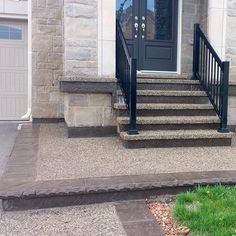
{"label": "whole second step from the bottom, pebbled tread and dark riser", "polygon": [[[118,117],[118,132],[127,131],[129,117]],[[195,130],[214,129],[219,127],[217,116],[146,116],[137,117],[138,130]]]}

